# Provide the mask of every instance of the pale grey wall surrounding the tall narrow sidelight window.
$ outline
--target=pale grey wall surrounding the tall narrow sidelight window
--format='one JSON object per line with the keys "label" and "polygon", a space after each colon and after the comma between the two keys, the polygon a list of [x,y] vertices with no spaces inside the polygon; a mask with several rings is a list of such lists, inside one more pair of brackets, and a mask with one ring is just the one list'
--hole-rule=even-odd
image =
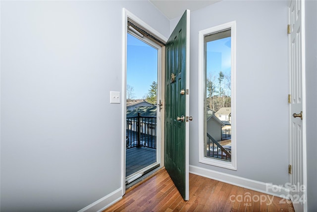
{"label": "pale grey wall surrounding the tall narrow sidelight window", "polygon": [[[198,162],[198,32],[237,23],[237,171]],[[170,31],[178,19],[171,20]],[[221,1],[191,13],[190,165],[288,182],[287,1]],[[245,116],[254,114],[254,116]],[[202,141],[201,141],[202,142]]]}

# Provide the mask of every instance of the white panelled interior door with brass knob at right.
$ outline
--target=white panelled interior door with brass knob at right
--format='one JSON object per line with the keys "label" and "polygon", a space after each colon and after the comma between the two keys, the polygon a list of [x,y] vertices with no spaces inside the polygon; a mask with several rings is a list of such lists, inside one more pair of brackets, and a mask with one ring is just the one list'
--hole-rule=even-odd
{"label": "white panelled interior door with brass knob at right", "polygon": [[306,211],[304,1],[289,5],[290,198],[296,212]]}

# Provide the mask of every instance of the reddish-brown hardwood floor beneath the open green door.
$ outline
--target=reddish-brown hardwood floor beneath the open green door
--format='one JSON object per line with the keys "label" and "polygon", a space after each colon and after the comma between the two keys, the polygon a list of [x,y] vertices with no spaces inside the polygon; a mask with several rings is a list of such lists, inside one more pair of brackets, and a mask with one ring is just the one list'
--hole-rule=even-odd
{"label": "reddish-brown hardwood floor beneath the open green door", "polygon": [[126,191],[104,212],[294,212],[286,200],[189,175],[189,201],[184,201],[165,168]]}

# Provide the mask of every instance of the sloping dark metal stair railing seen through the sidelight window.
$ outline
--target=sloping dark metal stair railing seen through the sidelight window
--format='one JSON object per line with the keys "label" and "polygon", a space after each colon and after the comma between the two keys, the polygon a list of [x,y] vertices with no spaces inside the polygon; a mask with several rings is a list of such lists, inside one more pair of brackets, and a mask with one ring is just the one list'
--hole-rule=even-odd
{"label": "sloping dark metal stair railing seen through the sidelight window", "polygon": [[207,133],[208,138],[208,149],[207,149],[207,156],[224,159],[224,160],[231,160],[231,154],[223,148],[220,143],[218,143],[216,140],[214,140],[211,135]]}

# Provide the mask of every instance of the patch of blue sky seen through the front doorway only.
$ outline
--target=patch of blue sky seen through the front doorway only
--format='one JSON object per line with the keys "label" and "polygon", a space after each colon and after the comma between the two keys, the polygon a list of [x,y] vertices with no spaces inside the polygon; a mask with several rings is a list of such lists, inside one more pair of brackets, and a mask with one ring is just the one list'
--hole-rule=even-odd
{"label": "patch of blue sky seen through the front doorway only", "polygon": [[134,88],[134,99],[142,99],[158,81],[158,50],[138,38],[127,36],[127,84]]}

